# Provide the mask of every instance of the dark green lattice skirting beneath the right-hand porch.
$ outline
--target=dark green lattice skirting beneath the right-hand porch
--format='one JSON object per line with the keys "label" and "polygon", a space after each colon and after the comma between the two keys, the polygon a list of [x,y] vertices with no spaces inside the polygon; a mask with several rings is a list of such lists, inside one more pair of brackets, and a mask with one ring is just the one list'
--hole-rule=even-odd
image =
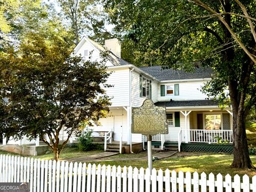
{"label": "dark green lattice skirting beneath the right-hand porch", "polygon": [[181,143],[181,151],[185,152],[223,152],[233,153],[233,145],[208,144],[208,143]]}

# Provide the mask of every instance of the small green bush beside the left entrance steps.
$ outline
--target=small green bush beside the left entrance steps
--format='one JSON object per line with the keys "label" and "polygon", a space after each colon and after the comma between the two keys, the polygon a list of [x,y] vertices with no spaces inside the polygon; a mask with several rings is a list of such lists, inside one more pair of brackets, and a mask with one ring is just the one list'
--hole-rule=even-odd
{"label": "small green bush beside the left entrance steps", "polygon": [[93,148],[93,138],[92,138],[92,130],[86,129],[79,137],[78,137],[78,148],[82,151],[89,151]]}

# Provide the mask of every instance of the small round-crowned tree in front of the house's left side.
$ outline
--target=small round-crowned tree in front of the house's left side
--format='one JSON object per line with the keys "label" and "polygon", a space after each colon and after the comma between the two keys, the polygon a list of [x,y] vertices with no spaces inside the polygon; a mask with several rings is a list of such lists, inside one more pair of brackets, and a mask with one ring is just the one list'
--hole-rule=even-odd
{"label": "small round-crowned tree in front of the house's left side", "polygon": [[[59,36],[45,39],[30,33],[18,52],[0,57],[8,62],[2,86],[16,137],[39,137],[58,160],[72,134],[82,132],[81,123],[92,125],[104,117],[110,105],[102,87],[109,74],[104,63],[71,57],[69,45]],[[10,127],[9,127],[10,129]],[[67,138],[60,143],[60,132]],[[50,138],[50,142],[45,139]]]}

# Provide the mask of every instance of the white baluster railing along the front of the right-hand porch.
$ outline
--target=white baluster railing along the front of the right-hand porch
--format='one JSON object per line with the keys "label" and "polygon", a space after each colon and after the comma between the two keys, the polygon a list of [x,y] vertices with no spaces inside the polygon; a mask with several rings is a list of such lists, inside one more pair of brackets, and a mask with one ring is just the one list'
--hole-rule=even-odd
{"label": "white baluster railing along the front of the right-hand porch", "polygon": [[[181,141],[205,143],[232,143],[233,130],[181,130]],[[182,137],[187,135],[187,139]]]}

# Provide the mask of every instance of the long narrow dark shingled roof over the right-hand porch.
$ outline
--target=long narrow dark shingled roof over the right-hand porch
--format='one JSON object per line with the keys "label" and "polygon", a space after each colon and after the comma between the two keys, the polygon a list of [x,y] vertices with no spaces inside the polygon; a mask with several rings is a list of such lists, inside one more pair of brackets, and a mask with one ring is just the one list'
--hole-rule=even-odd
{"label": "long narrow dark shingled roof over the right-hand porch", "polygon": [[191,100],[191,101],[166,101],[156,102],[156,106],[161,107],[196,107],[196,106],[218,106],[216,100]]}

